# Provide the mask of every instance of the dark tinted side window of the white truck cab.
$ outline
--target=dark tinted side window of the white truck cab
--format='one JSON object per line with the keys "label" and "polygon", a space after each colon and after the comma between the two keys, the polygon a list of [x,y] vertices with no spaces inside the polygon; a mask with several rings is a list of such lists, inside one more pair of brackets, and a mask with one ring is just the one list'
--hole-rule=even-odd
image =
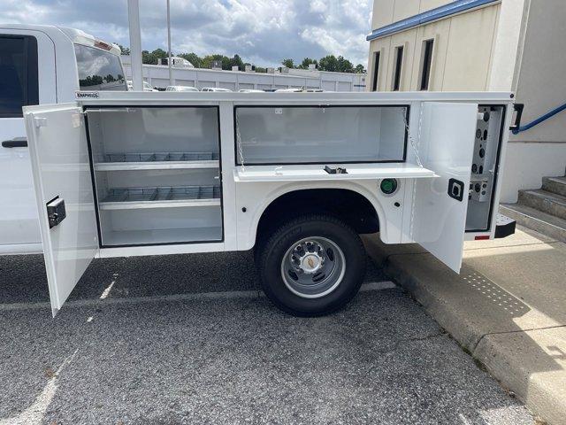
{"label": "dark tinted side window of the white truck cab", "polygon": [[37,40],[0,35],[0,118],[21,117],[22,106],[39,104]]}

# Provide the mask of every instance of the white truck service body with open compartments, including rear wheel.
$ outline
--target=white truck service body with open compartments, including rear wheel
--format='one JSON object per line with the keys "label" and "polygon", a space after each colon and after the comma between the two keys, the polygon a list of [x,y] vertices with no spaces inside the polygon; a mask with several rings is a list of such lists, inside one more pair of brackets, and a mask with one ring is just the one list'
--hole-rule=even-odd
{"label": "white truck service body with open compartments, including rear wheel", "polygon": [[356,295],[360,234],[459,272],[464,239],[514,231],[497,223],[513,109],[510,93],[430,92],[82,91],[24,107],[52,311],[96,257],[254,248],[266,295],[306,316]]}

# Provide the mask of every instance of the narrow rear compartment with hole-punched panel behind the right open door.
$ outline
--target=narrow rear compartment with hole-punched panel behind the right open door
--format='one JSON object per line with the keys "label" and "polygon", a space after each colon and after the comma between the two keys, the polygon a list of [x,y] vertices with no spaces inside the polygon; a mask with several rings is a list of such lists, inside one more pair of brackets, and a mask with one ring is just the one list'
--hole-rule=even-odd
{"label": "narrow rear compartment with hole-punched panel behind the right open door", "polygon": [[481,105],[478,109],[466,215],[468,232],[487,231],[490,228],[504,111],[504,106]]}

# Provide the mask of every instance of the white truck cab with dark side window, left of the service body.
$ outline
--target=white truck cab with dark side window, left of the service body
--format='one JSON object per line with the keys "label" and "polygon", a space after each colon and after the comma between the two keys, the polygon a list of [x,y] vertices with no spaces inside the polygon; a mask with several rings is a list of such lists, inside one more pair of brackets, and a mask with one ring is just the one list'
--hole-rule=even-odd
{"label": "white truck cab with dark side window, left of the service body", "polygon": [[119,47],[77,29],[0,24],[0,254],[41,252],[22,106],[126,90]]}

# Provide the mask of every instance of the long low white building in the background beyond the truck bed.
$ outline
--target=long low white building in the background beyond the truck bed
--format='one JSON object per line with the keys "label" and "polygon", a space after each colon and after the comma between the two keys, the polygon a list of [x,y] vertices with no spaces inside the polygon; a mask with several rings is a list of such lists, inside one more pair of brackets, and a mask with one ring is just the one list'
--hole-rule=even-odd
{"label": "long low white building in the background beyond the truck bed", "polygon": [[[132,67],[129,56],[122,56],[126,76],[131,79]],[[191,86],[197,89],[218,87],[231,89],[324,89],[325,91],[364,91],[366,86],[363,73],[327,73],[290,69],[286,73],[273,70],[272,73],[254,73],[242,71],[223,71],[219,69],[202,69],[172,67],[174,86]],[[152,87],[165,89],[169,82],[167,66],[144,65],[143,79]]]}

